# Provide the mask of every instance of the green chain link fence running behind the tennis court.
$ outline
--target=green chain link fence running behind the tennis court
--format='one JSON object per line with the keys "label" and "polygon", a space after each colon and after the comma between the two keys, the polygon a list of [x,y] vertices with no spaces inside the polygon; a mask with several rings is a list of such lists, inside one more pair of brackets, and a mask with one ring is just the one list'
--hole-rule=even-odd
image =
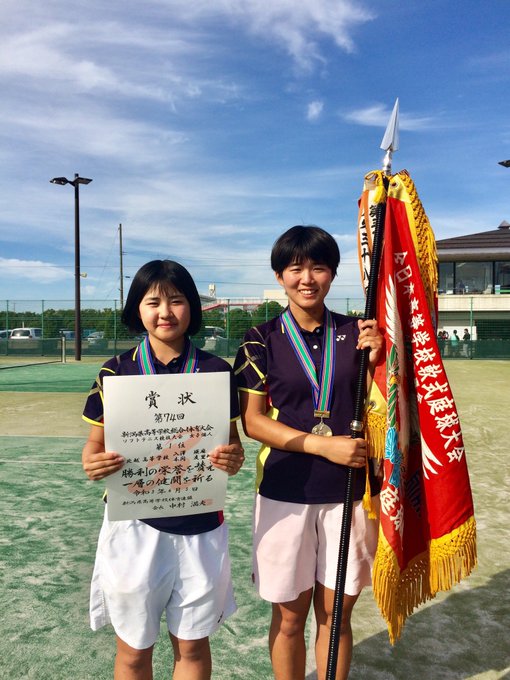
{"label": "green chain link fence running behind the tennis court", "polygon": [[[446,359],[509,359],[510,296],[508,310],[440,312],[438,343]],[[328,307],[342,314],[362,316],[362,298],[328,298]],[[222,299],[204,303],[202,328],[194,342],[220,356],[235,356],[244,333],[282,310],[274,300]],[[82,356],[113,356],[133,347],[133,337],[120,320],[117,300],[82,300]],[[1,300],[0,356],[72,357],[75,352],[74,301]],[[15,337],[14,329],[31,329],[33,337]],[[9,337],[10,336],[10,337]]]}

